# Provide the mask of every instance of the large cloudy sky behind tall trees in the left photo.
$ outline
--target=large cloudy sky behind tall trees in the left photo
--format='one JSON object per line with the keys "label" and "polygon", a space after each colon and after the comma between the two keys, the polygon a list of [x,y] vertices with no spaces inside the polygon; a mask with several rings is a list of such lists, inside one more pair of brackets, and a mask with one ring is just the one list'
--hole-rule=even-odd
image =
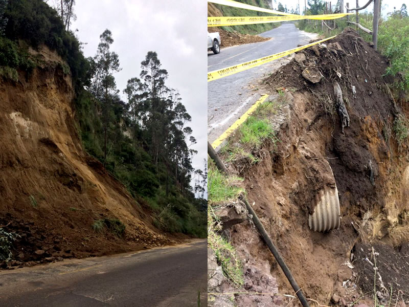
{"label": "large cloudy sky behind tall trees in the left photo", "polygon": [[169,74],[167,86],[180,93],[192,116],[190,127],[198,151],[193,167],[203,169],[207,158],[207,2],[192,0],[77,0],[77,20],[71,29],[94,56],[99,36],[112,32],[111,50],[119,55],[122,71],[115,74],[122,91],[128,79],[139,77],[141,61],[156,51]]}

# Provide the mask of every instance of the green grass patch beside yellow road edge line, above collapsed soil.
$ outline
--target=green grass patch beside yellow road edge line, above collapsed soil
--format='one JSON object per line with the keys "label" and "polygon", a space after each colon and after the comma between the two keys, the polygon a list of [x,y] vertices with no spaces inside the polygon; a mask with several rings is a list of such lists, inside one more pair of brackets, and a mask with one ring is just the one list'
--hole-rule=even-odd
{"label": "green grass patch beside yellow road edge line, above collapsed soil", "polygon": [[229,137],[220,154],[225,162],[232,163],[246,159],[252,164],[258,162],[257,152],[265,141],[274,146],[278,142],[270,122],[281,106],[281,99],[269,100],[260,104],[256,111]]}

